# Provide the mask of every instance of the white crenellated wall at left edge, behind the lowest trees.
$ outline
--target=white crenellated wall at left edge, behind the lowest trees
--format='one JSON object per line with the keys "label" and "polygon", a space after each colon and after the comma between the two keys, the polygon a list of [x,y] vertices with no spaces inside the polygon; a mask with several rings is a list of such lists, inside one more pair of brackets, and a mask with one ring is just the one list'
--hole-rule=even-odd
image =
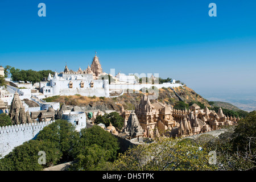
{"label": "white crenellated wall at left edge, behind the lowest trees", "polygon": [[14,147],[34,139],[40,130],[52,122],[26,123],[23,125],[0,127],[0,155],[3,157],[9,154]]}

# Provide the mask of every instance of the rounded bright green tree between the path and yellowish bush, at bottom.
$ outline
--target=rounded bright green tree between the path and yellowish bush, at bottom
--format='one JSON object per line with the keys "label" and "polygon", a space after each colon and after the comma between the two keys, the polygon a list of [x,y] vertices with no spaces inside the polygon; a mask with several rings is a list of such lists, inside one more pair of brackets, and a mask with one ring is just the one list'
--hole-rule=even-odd
{"label": "rounded bright green tree between the path and yellowish bush, at bottom", "polygon": [[74,148],[76,156],[72,170],[101,170],[117,158],[117,138],[100,126],[82,129],[79,143]]}

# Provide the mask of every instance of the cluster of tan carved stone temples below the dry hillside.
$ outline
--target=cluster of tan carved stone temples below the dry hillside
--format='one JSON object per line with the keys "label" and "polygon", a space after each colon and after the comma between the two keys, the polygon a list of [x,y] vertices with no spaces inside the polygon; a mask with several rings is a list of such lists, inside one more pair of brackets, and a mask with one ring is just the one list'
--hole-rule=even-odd
{"label": "cluster of tan carved stone temples below the dry hillside", "polygon": [[[172,137],[185,137],[233,125],[238,121],[237,118],[226,117],[221,108],[216,113],[208,107],[203,110],[193,104],[189,110],[179,110],[157,100],[149,100],[146,94],[141,97],[135,113],[146,137],[150,138],[159,135],[160,131],[168,131]],[[121,115],[125,117],[123,109]]]}

